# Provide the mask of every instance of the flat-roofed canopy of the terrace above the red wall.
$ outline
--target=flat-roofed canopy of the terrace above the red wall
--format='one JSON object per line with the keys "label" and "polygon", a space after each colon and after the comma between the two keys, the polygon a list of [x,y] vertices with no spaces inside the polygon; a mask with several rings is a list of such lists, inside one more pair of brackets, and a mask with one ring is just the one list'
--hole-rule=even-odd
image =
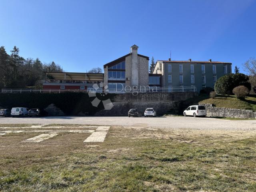
{"label": "flat-roofed canopy of the terrace above the red wall", "polygon": [[46,72],[55,80],[103,81],[104,73]]}

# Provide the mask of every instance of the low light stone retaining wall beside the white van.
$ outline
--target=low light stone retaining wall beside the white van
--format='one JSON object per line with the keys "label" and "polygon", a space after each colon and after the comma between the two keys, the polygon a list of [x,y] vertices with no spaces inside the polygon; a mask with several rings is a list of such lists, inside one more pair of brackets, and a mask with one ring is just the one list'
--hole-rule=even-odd
{"label": "low light stone retaining wall beside the white van", "polygon": [[203,104],[206,108],[206,113],[208,117],[230,117],[230,118],[256,118],[256,112],[252,110],[243,109],[231,109],[231,108],[220,108],[214,107],[212,104]]}

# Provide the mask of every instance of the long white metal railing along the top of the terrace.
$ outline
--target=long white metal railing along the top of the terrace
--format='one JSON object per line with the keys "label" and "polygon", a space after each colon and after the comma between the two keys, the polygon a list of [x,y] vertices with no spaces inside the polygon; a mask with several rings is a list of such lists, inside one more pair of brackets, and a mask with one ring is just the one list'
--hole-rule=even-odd
{"label": "long white metal railing along the top of the terrace", "polygon": [[[102,89],[98,90],[80,90],[80,89],[2,89],[2,93],[63,93],[63,92],[98,92],[102,93]],[[161,88],[123,88],[123,89],[107,89],[104,92],[109,93],[147,93],[147,92],[196,92],[196,86],[188,87],[161,87]]]}

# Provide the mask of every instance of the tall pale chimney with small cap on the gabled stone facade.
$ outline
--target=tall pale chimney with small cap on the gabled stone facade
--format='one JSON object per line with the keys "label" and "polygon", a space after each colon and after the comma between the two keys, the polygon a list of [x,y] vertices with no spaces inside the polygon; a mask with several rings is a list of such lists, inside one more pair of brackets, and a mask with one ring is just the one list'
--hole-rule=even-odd
{"label": "tall pale chimney with small cap on the gabled stone facade", "polygon": [[139,66],[138,66],[138,46],[131,46],[132,53],[132,76],[131,76],[131,85],[139,86]]}

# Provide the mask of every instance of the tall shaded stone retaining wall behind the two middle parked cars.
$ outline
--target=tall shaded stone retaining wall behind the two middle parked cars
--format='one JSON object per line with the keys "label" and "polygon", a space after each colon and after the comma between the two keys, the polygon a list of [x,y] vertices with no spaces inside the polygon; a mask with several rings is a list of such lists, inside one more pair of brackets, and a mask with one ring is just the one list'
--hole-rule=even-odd
{"label": "tall shaded stone retaining wall behind the two middle parked cars", "polygon": [[131,93],[117,94],[112,100],[114,105],[111,110],[101,110],[96,116],[127,116],[131,108],[138,108],[141,114],[148,107],[153,107],[157,115],[166,113],[178,114],[182,108],[182,101],[198,95],[196,92],[176,92],[176,93]]}

